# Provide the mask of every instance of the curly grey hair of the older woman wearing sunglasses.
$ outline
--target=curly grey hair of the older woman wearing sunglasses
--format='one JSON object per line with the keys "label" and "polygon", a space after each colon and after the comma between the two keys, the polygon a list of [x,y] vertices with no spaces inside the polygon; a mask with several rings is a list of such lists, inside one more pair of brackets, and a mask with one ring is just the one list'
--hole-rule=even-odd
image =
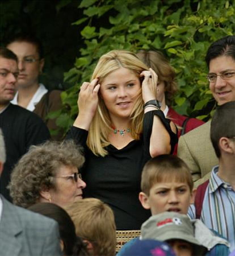
{"label": "curly grey hair of the older woman wearing sunglasses", "polygon": [[12,170],[9,188],[13,203],[23,208],[38,203],[44,188],[56,189],[53,177],[60,167],[80,168],[84,162],[84,156],[72,140],[31,146]]}

